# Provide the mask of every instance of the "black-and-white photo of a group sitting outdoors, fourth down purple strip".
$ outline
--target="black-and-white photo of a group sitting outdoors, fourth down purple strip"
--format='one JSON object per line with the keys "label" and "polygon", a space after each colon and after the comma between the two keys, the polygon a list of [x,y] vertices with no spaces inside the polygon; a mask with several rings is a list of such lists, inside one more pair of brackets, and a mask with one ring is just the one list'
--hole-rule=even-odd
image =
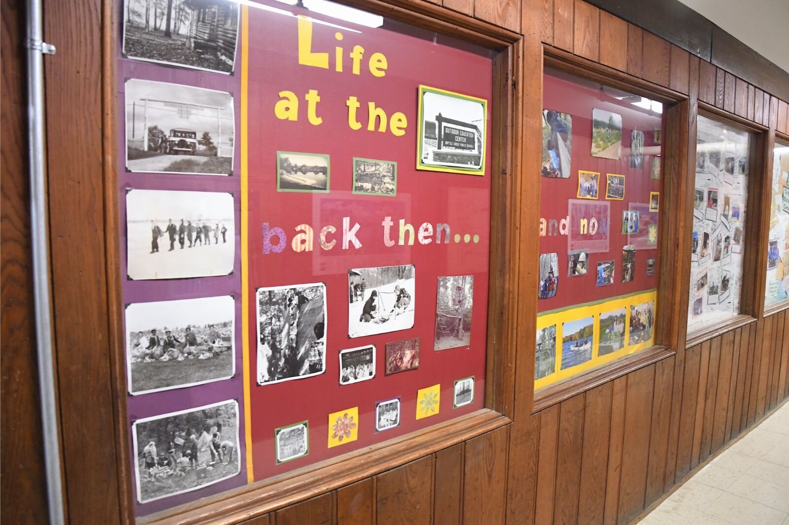
{"label": "black-and-white photo of a group sitting outdoors, fourth down purple strip", "polygon": [[232,378],[235,312],[233,296],[126,306],[129,393]]}

